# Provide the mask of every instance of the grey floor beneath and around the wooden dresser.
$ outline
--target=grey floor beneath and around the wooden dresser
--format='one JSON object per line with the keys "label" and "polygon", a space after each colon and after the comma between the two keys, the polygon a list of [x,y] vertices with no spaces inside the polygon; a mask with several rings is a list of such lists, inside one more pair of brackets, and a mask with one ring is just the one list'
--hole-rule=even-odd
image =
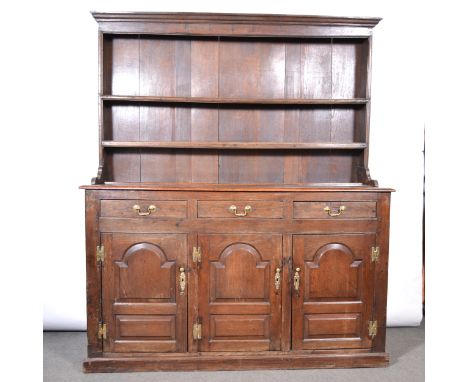
{"label": "grey floor beneath and around the wooden dresser", "polygon": [[157,372],[84,374],[84,332],[44,333],[44,381],[112,382],[422,382],[424,381],[424,326],[388,328],[390,366],[379,369],[262,370],[219,372]]}

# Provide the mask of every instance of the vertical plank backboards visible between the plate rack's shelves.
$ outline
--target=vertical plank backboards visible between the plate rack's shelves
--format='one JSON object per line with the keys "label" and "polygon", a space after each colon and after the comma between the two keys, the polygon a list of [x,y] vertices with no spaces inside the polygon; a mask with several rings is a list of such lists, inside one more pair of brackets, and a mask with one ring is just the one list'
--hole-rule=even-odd
{"label": "vertical plank backboards visible between the plate rack's shelves", "polygon": [[[107,35],[103,91],[253,101],[366,98],[369,48],[368,39]],[[104,139],[115,141],[359,143],[368,139],[369,106],[122,101],[105,104],[102,119]],[[122,182],[361,182],[357,167],[367,162],[367,150],[108,149],[105,156],[106,173]]]}

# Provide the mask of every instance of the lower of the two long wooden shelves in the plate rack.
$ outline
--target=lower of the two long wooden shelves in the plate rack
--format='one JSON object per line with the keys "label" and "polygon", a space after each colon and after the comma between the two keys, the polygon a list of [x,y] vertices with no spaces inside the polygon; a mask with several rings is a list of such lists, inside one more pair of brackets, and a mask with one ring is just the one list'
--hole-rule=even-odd
{"label": "lower of the two long wooden shelves in the plate rack", "polygon": [[103,141],[103,147],[161,149],[238,150],[361,150],[366,143],[287,143],[287,142],[187,142],[187,141]]}

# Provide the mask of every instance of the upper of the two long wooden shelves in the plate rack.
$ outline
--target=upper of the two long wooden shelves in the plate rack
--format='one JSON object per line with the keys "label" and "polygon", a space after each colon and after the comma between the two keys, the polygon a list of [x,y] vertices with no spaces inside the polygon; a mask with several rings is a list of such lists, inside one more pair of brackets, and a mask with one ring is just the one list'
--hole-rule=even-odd
{"label": "upper of the two long wooden shelves in the plate rack", "polygon": [[154,97],[154,96],[101,96],[103,101],[135,103],[187,103],[215,105],[364,105],[366,98],[312,99],[312,98],[209,98],[209,97]]}

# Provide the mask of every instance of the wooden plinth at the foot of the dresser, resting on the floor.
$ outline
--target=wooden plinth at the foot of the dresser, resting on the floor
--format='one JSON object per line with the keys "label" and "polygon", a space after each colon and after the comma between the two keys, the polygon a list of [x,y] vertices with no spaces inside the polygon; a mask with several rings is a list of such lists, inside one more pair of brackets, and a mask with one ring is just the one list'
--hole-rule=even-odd
{"label": "wooden plinth at the foot of the dresser, resting on the floor", "polygon": [[142,356],[106,355],[87,358],[87,373],[127,371],[254,370],[385,367],[388,353],[184,353]]}

